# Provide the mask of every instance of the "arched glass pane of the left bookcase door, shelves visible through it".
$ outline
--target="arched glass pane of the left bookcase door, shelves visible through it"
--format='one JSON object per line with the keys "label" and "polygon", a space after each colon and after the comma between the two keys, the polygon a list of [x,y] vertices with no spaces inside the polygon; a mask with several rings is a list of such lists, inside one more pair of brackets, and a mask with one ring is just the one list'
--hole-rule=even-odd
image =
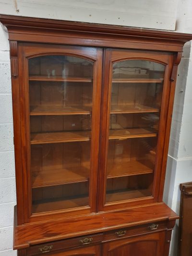
{"label": "arched glass pane of the left bookcase door, shelves visible through it", "polygon": [[94,63],[29,59],[32,213],[89,206]]}

